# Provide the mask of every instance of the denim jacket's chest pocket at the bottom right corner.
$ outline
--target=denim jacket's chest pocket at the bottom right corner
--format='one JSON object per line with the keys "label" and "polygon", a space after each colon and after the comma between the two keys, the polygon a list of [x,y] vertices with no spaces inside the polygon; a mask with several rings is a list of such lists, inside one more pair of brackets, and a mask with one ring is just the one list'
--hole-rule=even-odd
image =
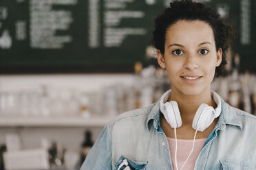
{"label": "denim jacket's chest pocket at the bottom right corner", "polygon": [[222,170],[256,170],[255,166],[237,160],[220,160],[220,165]]}

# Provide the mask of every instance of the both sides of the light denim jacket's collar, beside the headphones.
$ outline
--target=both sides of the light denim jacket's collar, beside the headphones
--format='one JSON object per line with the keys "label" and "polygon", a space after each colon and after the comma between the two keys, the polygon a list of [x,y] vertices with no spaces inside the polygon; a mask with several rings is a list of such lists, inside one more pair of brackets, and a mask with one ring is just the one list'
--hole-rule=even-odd
{"label": "both sides of the light denim jacket's collar, beside the headphones", "polygon": [[[222,110],[217,124],[215,125],[215,129],[220,128],[220,130],[224,130],[226,125],[234,125],[239,127],[240,130],[243,129],[243,123],[240,117],[237,115],[237,111],[228,105],[223,99],[222,102]],[[152,125],[155,130],[159,132],[160,130],[160,100],[153,104],[151,110],[149,111],[149,116],[147,117],[147,130],[150,130]]]}

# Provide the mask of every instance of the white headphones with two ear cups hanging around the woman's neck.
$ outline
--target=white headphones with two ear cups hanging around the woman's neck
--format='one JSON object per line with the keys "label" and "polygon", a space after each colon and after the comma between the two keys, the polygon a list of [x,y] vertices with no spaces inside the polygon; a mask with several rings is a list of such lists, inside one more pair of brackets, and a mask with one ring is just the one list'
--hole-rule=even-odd
{"label": "white headphones with two ear cups hanging around the woman's neck", "polygon": [[[182,119],[180,117],[180,110],[178,108],[178,104],[176,101],[167,101],[171,95],[171,90],[162,95],[160,99],[160,111],[164,114],[164,118],[167,120],[169,125],[172,128],[178,128],[182,126]],[[215,103],[217,104],[217,108],[214,110],[212,106],[207,104],[201,104],[195,113],[195,117],[193,119],[192,127],[195,130],[203,132],[213,120],[220,116],[221,112],[221,99],[220,96],[217,95],[214,91],[211,91],[211,95]]]}

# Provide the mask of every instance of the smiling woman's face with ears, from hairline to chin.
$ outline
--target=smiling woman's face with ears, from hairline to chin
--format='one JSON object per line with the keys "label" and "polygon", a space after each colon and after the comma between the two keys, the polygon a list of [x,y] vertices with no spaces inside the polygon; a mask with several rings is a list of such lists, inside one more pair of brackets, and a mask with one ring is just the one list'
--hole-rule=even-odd
{"label": "smiling woman's face with ears, from hairline to chin", "polygon": [[158,63],[167,69],[172,90],[198,95],[211,89],[215,67],[222,61],[216,51],[213,29],[203,21],[178,21],[166,32],[164,54]]}

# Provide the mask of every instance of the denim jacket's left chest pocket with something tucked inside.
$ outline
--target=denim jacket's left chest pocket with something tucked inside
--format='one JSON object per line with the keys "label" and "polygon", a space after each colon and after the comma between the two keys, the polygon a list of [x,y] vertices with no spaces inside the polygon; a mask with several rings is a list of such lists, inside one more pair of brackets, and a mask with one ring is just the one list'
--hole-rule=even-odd
{"label": "denim jacket's left chest pocket with something tucked inside", "polygon": [[116,162],[114,170],[146,170],[147,163],[148,162],[136,162],[125,156],[121,156]]}

